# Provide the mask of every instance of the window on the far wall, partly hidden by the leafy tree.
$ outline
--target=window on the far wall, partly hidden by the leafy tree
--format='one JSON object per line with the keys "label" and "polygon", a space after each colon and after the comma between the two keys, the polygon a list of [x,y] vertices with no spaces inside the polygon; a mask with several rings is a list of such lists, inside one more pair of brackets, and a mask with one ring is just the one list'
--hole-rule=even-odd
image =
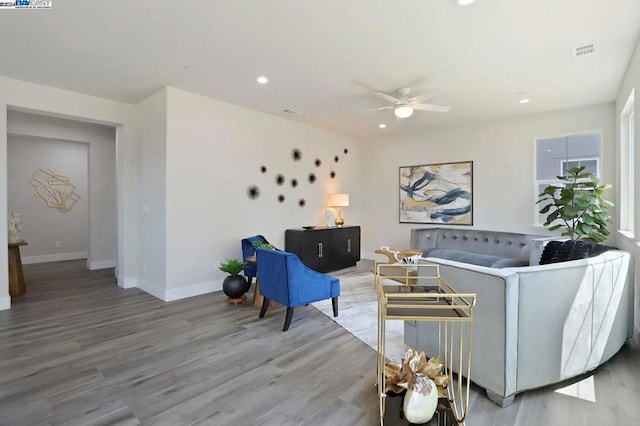
{"label": "window on the far wall, partly hidden by the leafy tree", "polygon": [[[538,194],[549,185],[563,186],[558,176],[566,175],[573,167],[585,167],[586,171],[600,178],[602,134],[597,131],[575,133],[566,136],[538,138],[535,141],[535,201]],[[534,225],[541,226],[546,214],[538,213],[541,204],[534,204]]]}

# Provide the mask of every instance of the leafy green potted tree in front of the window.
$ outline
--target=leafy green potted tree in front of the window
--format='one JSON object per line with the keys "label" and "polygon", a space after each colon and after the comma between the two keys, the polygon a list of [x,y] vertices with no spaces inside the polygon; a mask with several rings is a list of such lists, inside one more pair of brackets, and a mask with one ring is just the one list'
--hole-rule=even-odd
{"label": "leafy green potted tree in front of the window", "polygon": [[549,185],[538,195],[537,204],[543,204],[540,213],[548,213],[544,226],[549,231],[561,229],[561,235],[572,240],[605,241],[609,235],[607,225],[611,223],[607,210],[613,203],[603,197],[611,185],[600,185],[598,178],[584,167],[571,168],[558,179],[565,183]]}

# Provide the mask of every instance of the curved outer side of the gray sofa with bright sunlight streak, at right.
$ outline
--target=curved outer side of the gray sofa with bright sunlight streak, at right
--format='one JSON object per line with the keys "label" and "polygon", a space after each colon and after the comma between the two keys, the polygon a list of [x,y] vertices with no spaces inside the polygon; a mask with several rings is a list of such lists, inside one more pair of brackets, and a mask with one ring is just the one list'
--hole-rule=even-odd
{"label": "curved outer side of the gray sofa with bright sunlight streak, at right", "polygon": [[629,335],[628,267],[629,254],[612,250],[513,269],[519,391],[585,373],[618,352]]}

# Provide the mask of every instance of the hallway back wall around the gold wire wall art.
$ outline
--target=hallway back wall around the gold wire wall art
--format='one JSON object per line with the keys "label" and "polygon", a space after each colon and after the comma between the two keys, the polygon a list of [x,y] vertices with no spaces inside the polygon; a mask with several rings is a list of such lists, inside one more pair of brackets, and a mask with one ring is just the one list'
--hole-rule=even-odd
{"label": "hallway back wall around the gold wire wall art", "polygon": [[[28,243],[20,248],[22,262],[86,258],[89,253],[89,145],[13,134],[9,134],[7,142],[8,205],[9,209],[21,213],[21,237]],[[70,211],[48,207],[34,194],[29,182],[40,169],[51,169],[71,180],[80,200]]]}

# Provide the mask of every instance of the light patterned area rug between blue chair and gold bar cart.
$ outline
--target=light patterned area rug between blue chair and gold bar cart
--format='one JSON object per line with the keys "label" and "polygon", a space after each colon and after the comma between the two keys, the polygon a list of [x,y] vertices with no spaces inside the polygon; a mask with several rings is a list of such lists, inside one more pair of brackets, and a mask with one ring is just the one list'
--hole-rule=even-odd
{"label": "light patterned area rug between blue chair and gold bar cart", "polygon": [[[378,296],[373,272],[341,275],[338,317],[334,318],[331,299],[313,303],[320,312],[358,339],[378,350]],[[387,321],[385,355],[400,361],[405,353],[404,321]]]}

